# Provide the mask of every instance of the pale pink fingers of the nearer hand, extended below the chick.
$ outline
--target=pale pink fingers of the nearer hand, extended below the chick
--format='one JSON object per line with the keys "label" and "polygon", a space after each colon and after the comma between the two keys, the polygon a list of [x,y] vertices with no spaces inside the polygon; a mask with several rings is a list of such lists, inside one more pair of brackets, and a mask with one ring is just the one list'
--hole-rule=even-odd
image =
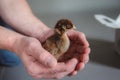
{"label": "pale pink fingers of the nearer hand, extended below the chick", "polygon": [[56,68],[48,70],[47,73],[44,73],[42,75],[38,75],[37,77],[43,77],[43,78],[54,78],[54,79],[61,79],[71,73],[77,64],[76,59],[71,59],[66,64],[65,63],[58,63]]}

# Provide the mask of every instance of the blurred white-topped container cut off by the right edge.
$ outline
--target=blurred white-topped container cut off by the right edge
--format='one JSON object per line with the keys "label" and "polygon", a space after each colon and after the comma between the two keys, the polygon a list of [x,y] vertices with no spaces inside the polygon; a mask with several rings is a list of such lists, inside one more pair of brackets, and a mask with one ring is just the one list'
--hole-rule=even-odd
{"label": "blurred white-topped container cut off by the right edge", "polygon": [[107,27],[115,29],[115,50],[120,54],[120,14],[116,20],[102,14],[96,14],[95,18]]}

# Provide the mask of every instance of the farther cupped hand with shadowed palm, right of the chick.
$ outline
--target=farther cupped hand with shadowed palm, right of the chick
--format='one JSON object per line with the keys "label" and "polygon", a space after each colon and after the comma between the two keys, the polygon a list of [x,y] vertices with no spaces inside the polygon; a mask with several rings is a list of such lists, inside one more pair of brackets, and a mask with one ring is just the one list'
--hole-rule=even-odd
{"label": "farther cupped hand with shadowed palm, right of the chick", "polygon": [[70,30],[67,35],[70,39],[70,48],[60,58],[60,61],[68,61],[69,59],[76,58],[78,64],[75,70],[70,74],[75,75],[77,74],[77,71],[82,70],[85,64],[89,61],[90,48],[84,33]]}

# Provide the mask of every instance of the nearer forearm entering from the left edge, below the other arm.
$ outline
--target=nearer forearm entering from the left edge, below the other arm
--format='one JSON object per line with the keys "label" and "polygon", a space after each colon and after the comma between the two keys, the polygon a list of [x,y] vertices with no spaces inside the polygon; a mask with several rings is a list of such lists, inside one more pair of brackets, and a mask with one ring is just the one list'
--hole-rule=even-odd
{"label": "nearer forearm entering from the left edge, below the other arm", "polygon": [[22,37],[24,36],[0,26],[0,49],[13,51],[15,41]]}

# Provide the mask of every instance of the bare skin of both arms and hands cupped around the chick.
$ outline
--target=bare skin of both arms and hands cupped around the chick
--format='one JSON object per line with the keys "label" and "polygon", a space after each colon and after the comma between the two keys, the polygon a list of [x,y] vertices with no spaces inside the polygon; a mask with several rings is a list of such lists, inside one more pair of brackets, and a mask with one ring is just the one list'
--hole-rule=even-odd
{"label": "bare skin of both arms and hands cupped around the chick", "polygon": [[[0,26],[0,49],[15,52],[31,76],[63,78],[68,74],[75,75],[88,62],[89,43],[84,33],[72,30],[67,33],[71,40],[72,51],[68,50],[66,55],[68,53],[73,55],[76,51],[77,54],[66,62],[58,63],[41,45],[54,34],[53,30],[34,16],[26,0],[0,0],[0,16],[17,31]],[[74,42],[76,49],[72,48]]]}

